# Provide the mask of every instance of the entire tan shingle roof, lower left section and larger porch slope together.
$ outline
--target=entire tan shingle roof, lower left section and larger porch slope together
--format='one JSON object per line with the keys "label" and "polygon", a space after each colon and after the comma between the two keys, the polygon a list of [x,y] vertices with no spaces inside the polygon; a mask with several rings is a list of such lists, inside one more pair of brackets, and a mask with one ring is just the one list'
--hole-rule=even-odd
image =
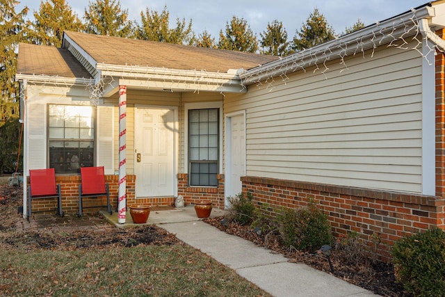
{"label": "entire tan shingle roof, lower left section and larger porch slope together", "polygon": [[[248,70],[278,59],[277,56],[174,45],[65,31],[97,63],[138,65],[175,70],[227,72]],[[65,48],[20,43],[17,73],[58,77],[90,78],[91,75]]]}

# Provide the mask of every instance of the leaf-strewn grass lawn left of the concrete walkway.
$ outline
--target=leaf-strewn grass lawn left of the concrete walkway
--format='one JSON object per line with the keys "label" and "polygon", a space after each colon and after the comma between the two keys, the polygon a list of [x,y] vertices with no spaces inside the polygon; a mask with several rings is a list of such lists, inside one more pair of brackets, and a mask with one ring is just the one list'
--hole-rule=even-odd
{"label": "leaf-strewn grass lawn left of the concrete walkway", "polygon": [[186,245],[2,250],[0,296],[270,296]]}

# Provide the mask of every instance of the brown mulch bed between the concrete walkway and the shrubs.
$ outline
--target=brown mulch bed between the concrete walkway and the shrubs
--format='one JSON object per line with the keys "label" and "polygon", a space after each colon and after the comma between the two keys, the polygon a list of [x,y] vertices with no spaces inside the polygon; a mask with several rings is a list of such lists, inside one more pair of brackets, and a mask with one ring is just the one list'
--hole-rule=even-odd
{"label": "brown mulch bed between the concrete walkway and the shrubs", "polygon": [[[239,225],[228,222],[225,218],[206,218],[204,222],[217,227],[219,230],[240,236],[252,241],[257,246],[263,246],[275,252],[280,252],[289,259],[289,262],[304,263],[320,271],[330,272],[329,262],[318,250],[316,253],[303,252],[301,250],[289,249],[280,243],[279,236],[274,232],[261,236],[254,232],[249,225]],[[346,280],[364,289],[373,291],[382,296],[412,297],[403,290],[401,284],[396,283],[394,278],[394,266],[372,259],[353,259],[345,250],[332,250],[331,254],[334,273],[337,278]]]}

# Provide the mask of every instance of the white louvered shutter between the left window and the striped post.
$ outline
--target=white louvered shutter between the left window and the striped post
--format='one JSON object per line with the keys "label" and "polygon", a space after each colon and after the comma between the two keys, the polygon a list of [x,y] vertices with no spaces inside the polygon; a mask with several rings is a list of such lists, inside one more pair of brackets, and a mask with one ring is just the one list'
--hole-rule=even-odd
{"label": "white louvered shutter between the left window and the striped post", "polygon": [[113,122],[113,106],[97,106],[97,166],[107,175],[114,174]]}

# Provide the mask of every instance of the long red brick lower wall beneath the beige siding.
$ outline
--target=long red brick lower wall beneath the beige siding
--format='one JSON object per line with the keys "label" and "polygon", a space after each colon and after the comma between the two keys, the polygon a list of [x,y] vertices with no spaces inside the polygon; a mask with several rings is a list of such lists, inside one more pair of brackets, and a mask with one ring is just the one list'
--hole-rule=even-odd
{"label": "long red brick lower wall beneath the beige siding", "polygon": [[388,259],[389,247],[407,234],[430,227],[445,229],[442,197],[261,177],[241,177],[241,181],[243,193],[252,193],[258,207],[269,204],[271,216],[282,207],[304,207],[313,198],[328,215],[334,235],[355,231],[369,243],[379,236],[382,259]]}

